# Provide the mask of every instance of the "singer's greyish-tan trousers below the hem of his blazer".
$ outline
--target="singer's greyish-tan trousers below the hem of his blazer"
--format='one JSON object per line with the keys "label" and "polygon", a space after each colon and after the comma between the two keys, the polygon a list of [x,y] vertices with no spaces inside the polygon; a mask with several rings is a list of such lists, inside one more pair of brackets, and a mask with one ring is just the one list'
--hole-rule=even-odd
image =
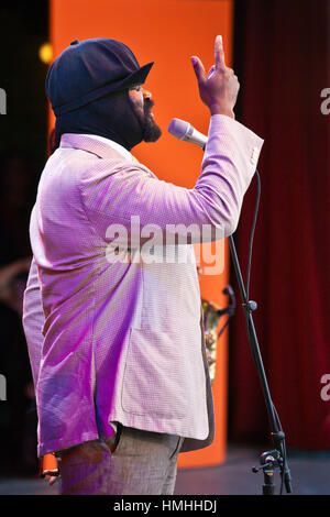
{"label": "singer's greyish-tan trousers below the hem of his blazer", "polygon": [[111,438],[61,453],[62,495],[172,495],[184,438],[118,424]]}

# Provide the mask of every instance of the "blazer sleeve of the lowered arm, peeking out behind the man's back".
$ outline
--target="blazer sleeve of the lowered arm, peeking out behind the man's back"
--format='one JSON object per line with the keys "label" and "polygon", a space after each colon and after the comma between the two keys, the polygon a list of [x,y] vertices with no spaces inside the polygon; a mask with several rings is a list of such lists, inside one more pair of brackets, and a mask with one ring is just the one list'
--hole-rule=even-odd
{"label": "blazer sleeve of the lowered arm, peeking out behind the man's back", "polygon": [[42,345],[44,341],[44,320],[45,318],[42,307],[37,266],[33,257],[28,277],[26,288],[24,290],[22,322],[28,343],[33,383],[35,387],[38,378],[40,363],[42,358]]}

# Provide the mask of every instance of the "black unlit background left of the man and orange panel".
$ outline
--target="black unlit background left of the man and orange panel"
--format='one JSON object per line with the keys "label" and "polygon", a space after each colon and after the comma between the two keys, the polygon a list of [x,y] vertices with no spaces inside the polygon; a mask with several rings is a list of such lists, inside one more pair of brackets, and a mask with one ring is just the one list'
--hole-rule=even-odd
{"label": "black unlit background left of the man and orange panel", "polygon": [[[48,2],[1,2],[0,88],[0,267],[31,256],[29,220],[47,145],[47,65],[38,58],[48,40]],[[24,272],[21,274],[24,282]],[[0,472],[33,473],[35,405],[21,315],[0,302],[0,373],[7,402],[0,402]]]}

